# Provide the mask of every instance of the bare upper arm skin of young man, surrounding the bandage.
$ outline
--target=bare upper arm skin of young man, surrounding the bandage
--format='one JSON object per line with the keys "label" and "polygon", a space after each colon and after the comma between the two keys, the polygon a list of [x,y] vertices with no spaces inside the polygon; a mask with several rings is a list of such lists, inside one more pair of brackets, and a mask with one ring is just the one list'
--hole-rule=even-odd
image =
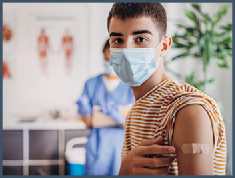
{"label": "bare upper arm skin of young man, surrounding the bandage", "polygon": [[[214,174],[211,120],[201,105],[188,105],[178,112],[173,141],[179,175]],[[208,144],[209,154],[183,154],[181,146],[188,143]]]}

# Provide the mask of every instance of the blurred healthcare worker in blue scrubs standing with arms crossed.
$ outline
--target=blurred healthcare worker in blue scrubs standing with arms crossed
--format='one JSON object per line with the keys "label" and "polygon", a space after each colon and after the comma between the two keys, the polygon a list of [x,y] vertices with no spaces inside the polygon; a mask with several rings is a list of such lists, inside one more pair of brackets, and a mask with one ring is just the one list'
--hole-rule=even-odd
{"label": "blurred healthcare worker in blue scrubs standing with arms crossed", "polygon": [[[87,80],[82,96],[77,101],[78,114],[87,128],[91,128],[86,144],[85,175],[118,174],[124,141],[125,114],[122,108],[129,106],[130,109],[135,102],[131,87],[118,78],[109,64],[109,40],[103,47],[103,55],[105,74]],[[93,125],[92,119],[97,115],[103,119],[108,116],[116,125]]]}

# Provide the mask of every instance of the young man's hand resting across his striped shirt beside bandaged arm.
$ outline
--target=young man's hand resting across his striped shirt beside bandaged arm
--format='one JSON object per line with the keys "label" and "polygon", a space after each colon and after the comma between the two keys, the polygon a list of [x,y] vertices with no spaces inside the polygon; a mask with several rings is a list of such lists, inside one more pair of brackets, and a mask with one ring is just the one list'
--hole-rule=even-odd
{"label": "young man's hand resting across his striped shirt beside bandaged arm", "polygon": [[143,140],[123,158],[119,175],[166,175],[174,158],[148,157],[149,154],[175,153],[174,147],[159,145],[162,141],[162,136]]}

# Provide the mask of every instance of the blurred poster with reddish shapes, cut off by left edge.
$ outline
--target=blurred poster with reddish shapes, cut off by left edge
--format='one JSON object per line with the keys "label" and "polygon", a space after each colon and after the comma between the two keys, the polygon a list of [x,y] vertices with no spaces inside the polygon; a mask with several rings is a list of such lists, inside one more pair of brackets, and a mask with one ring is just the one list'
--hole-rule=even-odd
{"label": "blurred poster with reddish shapes, cut off by left edge", "polygon": [[3,44],[3,79],[11,79],[15,69],[15,13],[3,12],[2,44]]}

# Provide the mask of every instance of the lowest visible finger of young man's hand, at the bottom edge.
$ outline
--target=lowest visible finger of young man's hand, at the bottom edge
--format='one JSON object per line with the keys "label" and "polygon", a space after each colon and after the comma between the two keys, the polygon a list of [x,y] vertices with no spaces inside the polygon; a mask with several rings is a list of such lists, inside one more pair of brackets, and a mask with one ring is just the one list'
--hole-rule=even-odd
{"label": "lowest visible finger of young man's hand, at the bottom edge", "polygon": [[133,169],[134,175],[166,175],[168,173],[169,167],[163,167],[158,169],[149,169],[138,167]]}

